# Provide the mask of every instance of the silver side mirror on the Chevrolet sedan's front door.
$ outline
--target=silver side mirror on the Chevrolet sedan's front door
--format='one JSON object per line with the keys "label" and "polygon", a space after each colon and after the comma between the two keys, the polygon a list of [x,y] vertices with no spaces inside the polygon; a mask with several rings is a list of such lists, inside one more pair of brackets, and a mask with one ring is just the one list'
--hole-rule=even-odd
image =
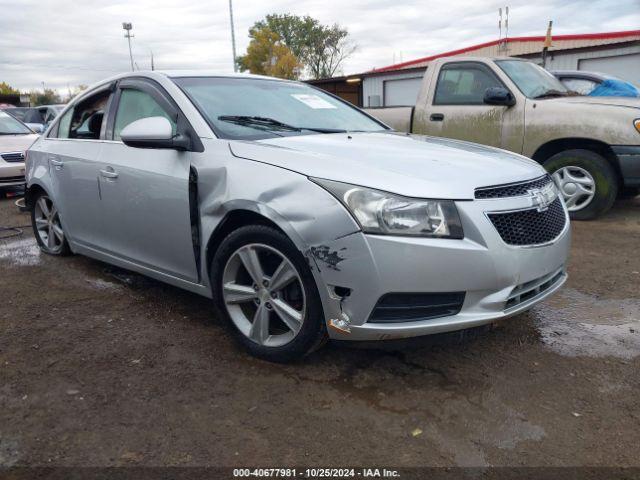
{"label": "silver side mirror on the Chevrolet sedan's front door", "polygon": [[165,117],[136,120],[122,129],[120,138],[125,145],[136,148],[189,150],[191,147],[188,137],[173,134],[171,123]]}

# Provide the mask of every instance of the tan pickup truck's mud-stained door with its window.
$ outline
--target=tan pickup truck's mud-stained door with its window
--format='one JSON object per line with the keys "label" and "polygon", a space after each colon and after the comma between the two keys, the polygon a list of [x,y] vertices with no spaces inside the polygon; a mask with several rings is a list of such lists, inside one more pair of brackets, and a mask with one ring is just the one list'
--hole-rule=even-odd
{"label": "tan pickup truck's mud-stained door with its window", "polygon": [[507,107],[485,105],[484,92],[490,87],[504,88],[504,84],[487,65],[464,61],[444,64],[422,124],[425,131],[418,133],[505,148],[502,125]]}

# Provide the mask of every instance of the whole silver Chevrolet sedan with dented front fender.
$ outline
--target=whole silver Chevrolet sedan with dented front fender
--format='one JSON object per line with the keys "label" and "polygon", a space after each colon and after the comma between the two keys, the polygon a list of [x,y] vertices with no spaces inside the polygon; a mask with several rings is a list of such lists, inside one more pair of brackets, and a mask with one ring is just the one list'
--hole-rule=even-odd
{"label": "whole silver Chevrolet sedan with dented front fender", "polygon": [[27,181],[44,252],[211,297],[274,361],[490,323],[566,280],[567,211],[537,163],[297,82],[111,78],[36,141]]}

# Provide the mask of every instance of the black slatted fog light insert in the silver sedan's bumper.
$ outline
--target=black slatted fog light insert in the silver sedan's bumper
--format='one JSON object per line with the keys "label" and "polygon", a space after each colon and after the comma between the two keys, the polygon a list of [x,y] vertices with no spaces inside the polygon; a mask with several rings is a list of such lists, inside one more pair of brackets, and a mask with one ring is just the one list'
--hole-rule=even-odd
{"label": "black slatted fog light insert in the silver sedan's bumper", "polygon": [[376,304],[369,322],[419,322],[456,315],[464,303],[464,292],[388,293]]}

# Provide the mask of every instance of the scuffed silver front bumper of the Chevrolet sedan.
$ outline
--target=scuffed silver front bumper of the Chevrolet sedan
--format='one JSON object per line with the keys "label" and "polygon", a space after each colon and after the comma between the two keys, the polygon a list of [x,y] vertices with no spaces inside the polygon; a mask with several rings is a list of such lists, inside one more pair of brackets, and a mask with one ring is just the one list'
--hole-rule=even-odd
{"label": "scuffed silver front bumper of the Chevrolet sedan", "polygon": [[[461,330],[516,315],[553,294],[567,278],[568,218],[552,242],[514,247],[504,243],[486,215],[525,208],[529,206],[526,202],[525,198],[457,202],[463,240],[358,232],[322,245],[324,254],[310,260],[317,267],[325,316],[329,326],[336,318],[350,322],[350,333],[329,328],[330,336],[385,340]],[[324,261],[327,258],[331,263]],[[544,288],[532,290],[514,304],[513,295],[519,288],[543,283]],[[336,294],[344,289],[350,290],[348,296]],[[368,321],[385,294],[461,291],[465,292],[464,303],[455,315],[415,322]]]}

